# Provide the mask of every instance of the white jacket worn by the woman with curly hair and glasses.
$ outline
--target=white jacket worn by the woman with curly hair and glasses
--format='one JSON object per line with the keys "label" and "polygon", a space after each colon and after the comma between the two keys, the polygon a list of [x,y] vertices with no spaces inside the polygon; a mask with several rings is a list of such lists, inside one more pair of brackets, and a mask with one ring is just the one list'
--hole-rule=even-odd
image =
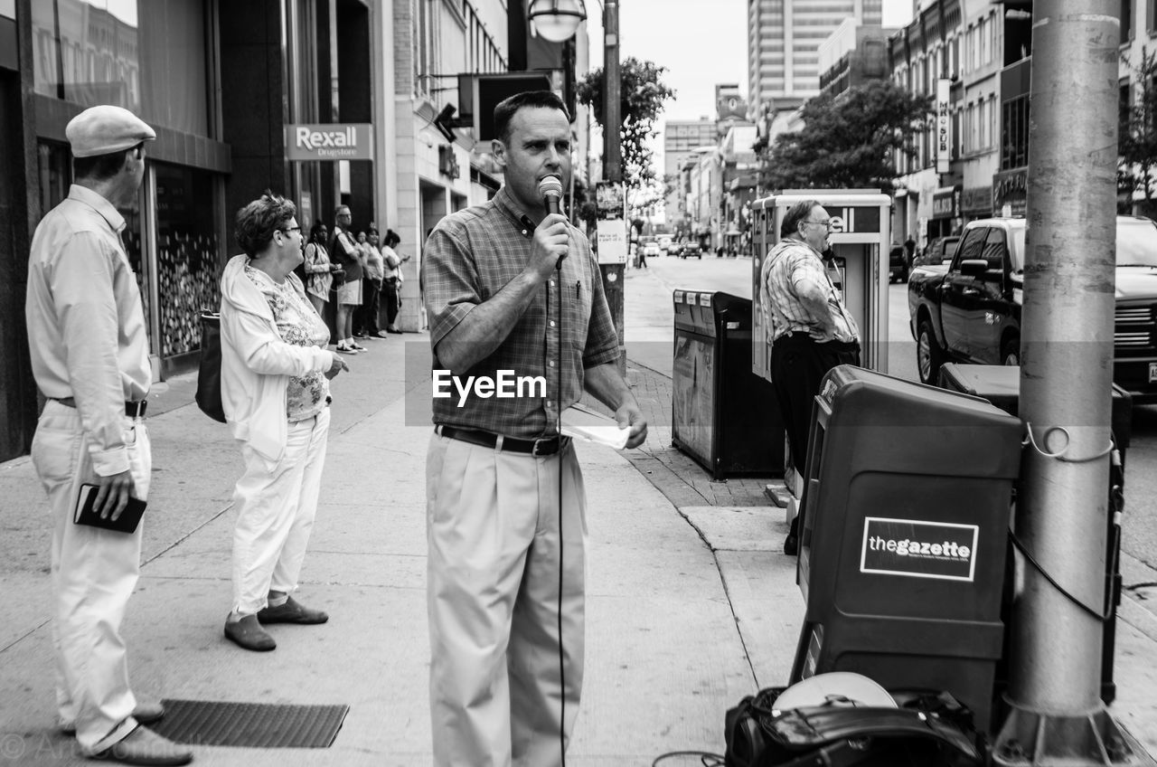
{"label": "white jacket worn by the woman with curly hair and glasses", "polygon": [[[327,371],[333,355],[281,339],[265,295],[245,276],[246,261],[244,254],[234,256],[221,275],[221,404],[233,436],[272,470],[286,448],[289,377]],[[304,300],[297,276],[286,279]]]}

